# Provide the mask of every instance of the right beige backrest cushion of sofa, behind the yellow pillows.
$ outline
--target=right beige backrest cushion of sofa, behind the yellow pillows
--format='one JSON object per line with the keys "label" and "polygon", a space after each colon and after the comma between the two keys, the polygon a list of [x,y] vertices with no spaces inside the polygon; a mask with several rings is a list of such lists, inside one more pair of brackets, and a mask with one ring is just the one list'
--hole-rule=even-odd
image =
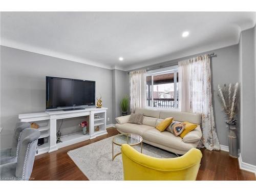
{"label": "right beige backrest cushion of sofa, behind the yellow pillows", "polygon": [[189,121],[191,123],[200,124],[201,123],[201,114],[197,113],[188,113],[188,112],[180,112],[174,110],[161,110],[160,111],[160,119],[165,119],[167,117],[173,117],[174,121]]}

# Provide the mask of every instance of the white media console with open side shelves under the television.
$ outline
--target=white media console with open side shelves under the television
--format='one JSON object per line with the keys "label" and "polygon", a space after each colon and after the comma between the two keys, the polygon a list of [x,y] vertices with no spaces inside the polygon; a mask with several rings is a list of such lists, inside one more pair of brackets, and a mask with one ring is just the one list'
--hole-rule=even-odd
{"label": "white media console with open side shelves under the television", "polygon": [[[36,122],[39,125],[40,137],[44,138],[45,143],[38,146],[38,155],[53,152],[58,148],[65,147],[77,142],[81,142],[88,139],[93,139],[100,135],[107,134],[106,132],[106,110],[108,108],[88,108],[83,110],[74,111],[46,111],[40,113],[28,113],[19,114],[18,118],[23,122]],[[95,118],[95,115],[98,117]],[[86,135],[82,132],[78,132],[71,135],[65,135],[61,137],[60,143],[56,143],[57,134],[57,120],[73,117],[89,116],[89,131]],[[99,126],[99,131],[95,131],[95,127]]]}

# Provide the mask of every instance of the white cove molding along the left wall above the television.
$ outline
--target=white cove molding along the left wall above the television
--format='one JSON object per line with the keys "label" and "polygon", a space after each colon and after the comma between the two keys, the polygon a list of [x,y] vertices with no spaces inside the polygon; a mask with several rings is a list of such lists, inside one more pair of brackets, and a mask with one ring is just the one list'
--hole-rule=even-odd
{"label": "white cove molding along the left wall above the television", "polygon": [[1,46],[24,50],[24,51],[28,51],[28,52],[32,52],[32,53],[41,54],[41,55],[47,55],[50,57],[56,57],[56,58],[60,58],[60,59],[70,60],[70,61],[74,61],[74,62],[79,62],[79,63],[89,65],[89,66],[95,66],[95,67],[100,67],[100,68],[105,68],[105,69],[110,69],[110,70],[112,69],[112,67],[110,65],[106,65],[104,63],[95,62],[95,61],[92,61],[89,59],[84,59],[81,57],[76,57],[76,56],[73,56],[70,54],[60,53],[60,52],[52,51],[49,49],[44,49],[44,48],[39,48],[39,47],[35,47],[35,46],[21,44],[19,42],[9,40],[6,38],[1,38]]}

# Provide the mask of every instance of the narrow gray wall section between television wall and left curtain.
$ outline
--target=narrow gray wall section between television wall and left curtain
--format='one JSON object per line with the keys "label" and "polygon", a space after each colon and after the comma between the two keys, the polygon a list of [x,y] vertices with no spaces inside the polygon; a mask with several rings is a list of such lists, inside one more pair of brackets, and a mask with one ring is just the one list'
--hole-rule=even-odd
{"label": "narrow gray wall section between television wall and left curtain", "polygon": [[122,115],[120,102],[124,95],[129,96],[129,75],[125,71],[112,70],[112,88],[113,88],[113,123],[115,118]]}

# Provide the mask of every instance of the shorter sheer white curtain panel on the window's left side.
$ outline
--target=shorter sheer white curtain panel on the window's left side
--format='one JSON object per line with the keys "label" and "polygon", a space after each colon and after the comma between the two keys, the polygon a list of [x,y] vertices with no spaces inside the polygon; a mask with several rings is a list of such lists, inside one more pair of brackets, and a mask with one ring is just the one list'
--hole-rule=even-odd
{"label": "shorter sheer white curtain panel on the window's left side", "polygon": [[130,72],[130,109],[146,107],[146,70]]}

